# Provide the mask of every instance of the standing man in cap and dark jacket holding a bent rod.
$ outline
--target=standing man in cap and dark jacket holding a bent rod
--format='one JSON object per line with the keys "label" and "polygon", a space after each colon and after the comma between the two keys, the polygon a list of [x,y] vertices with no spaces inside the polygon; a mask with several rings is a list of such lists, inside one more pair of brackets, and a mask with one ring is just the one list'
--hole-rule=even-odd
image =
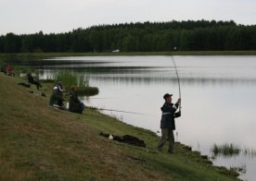
{"label": "standing man in cap and dark jacket holding a bent rod", "polygon": [[163,96],[165,103],[163,103],[161,109],[162,115],[160,119],[160,128],[161,128],[161,138],[158,144],[158,150],[161,151],[162,147],[166,140],[169,140],[169,149],[168,151],[173,153],[174,151],[174,135],[173,130],[175,130],[175,120],[174,118],[181,116],[181,112],[176,112],[178,109],[181,99],[179,98],[177,103],[172,103],[173,94],[166,93]]}

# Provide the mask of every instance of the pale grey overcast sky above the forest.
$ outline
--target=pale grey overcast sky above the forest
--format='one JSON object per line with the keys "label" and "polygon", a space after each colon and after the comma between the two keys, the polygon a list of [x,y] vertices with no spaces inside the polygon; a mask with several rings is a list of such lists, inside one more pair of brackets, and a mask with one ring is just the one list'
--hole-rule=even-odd
{"label": "pale grey overcast sky above the forest", "polygon": [[0,0],[0,34],[4,35],[188,19],[256,24],[256,0]]}

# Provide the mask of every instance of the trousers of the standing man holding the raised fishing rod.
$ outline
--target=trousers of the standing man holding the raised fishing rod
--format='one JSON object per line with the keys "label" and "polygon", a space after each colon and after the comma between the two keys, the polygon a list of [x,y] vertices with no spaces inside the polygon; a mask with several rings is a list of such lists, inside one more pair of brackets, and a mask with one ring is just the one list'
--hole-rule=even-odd
{"label": "trousers of the standing man holding the raised fishing rod", "polygon": [[169,152],[174,150],[174,135],[172,128],[161,128],[161,138],[158,144],[158,149],[162,149],[166,140],[169,140]]}

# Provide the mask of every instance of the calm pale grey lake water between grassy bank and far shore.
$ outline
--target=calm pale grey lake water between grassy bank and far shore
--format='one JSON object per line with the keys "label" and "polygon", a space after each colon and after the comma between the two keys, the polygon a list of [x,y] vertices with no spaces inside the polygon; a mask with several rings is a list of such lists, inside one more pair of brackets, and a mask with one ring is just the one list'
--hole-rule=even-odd
{"label": "calm pale grey lake water between grassy bank and far shore", "polygon": [[[214,156],[215,165],[242,167],[244,180],[256,173],[256,56],[173,56],[182,93],[182,116],[176,119],[176,141],[212,156],[213,144],[234,144],[234,156]],[[88,77],[99,94],[84,103],[98,108],[145,115],[104,112],[136,127],[160,132],[162,96],[179,97],[171,56],[80,56],[21,61],[34,66],[40,78],[69,69]],[[85,112],[86,114],[86,112]],[[103,130],[104,131],[104,130]],[[156,143],[157,144],[157,143]]]}

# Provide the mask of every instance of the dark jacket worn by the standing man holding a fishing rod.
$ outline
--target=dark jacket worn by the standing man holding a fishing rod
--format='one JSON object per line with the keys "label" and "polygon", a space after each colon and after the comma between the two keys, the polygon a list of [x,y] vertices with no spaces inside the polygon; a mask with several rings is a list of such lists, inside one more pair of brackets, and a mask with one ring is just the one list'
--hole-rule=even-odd
{"label": "dark jacket worn by the standing man holding a fishing rod", "polygon": [[179,104],[175,103],[163,103],[162,107],[160,108],[162,115],[160,119],[160,128],[172,128],[175,130],[175,117],[179,117],[180,113],[176,112],[178,109]]}

